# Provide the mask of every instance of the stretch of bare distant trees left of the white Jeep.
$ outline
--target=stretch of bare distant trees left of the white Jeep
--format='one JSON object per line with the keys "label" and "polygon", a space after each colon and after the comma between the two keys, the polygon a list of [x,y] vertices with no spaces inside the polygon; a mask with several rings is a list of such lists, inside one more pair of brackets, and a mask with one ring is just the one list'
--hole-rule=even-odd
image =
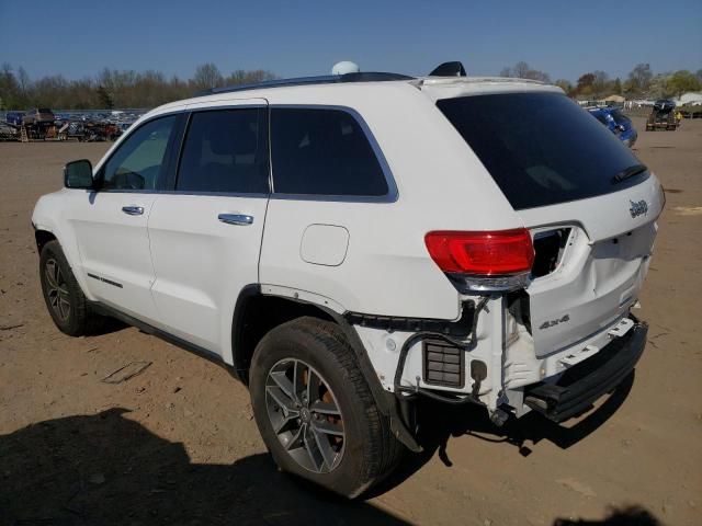
{"label": "stretch of bare distant trees left of the white Jeep", "polygon": [[275,79],[271,71],[235,70],[225,76],[216,65],[203,64],[190,79],[167,78],[162,72],[104,68],[94,77],[68,80],[61,75],[33,80],[23,67],[0,67],[0,110],[53,107],[59,110],[111,110],[155,107],[186,99],[210,88],[248,84]]}

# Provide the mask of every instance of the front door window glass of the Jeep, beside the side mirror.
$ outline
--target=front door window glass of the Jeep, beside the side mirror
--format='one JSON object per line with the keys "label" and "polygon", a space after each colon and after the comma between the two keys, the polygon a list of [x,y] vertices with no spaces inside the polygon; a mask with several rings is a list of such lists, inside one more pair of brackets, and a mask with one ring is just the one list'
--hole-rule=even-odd
{"label": "front door window glass of the Jeep, beside the side mirror", "polygon": [[157,118],[134,132],[105,163],[105,190],[155,190],[176,115]]}

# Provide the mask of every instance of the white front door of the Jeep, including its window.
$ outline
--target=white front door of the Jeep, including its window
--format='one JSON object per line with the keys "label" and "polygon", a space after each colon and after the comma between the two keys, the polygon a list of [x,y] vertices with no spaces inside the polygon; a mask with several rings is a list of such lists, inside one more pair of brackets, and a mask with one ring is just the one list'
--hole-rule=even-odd
{"label": "white front door of the Jeep, including its window", "polygon": [[156,118],[129,134],[99,168],[100,191],[76,195],[69,218],[91,296],[151,323],[158,315],[147,222],[177,118]]}

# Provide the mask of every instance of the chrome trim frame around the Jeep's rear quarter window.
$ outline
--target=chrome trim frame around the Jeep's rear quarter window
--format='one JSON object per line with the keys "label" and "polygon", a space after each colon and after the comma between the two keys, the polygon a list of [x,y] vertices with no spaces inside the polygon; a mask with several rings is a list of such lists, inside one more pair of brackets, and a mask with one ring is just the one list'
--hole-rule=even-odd
{"label": "chrome trim frame around the Jeep's rear quarter window", "polygon": [[[269,149],[270,149],[270,167],[271,167],[271,199],[281,199],[281,201],[319,201],[319,202],[331,202],[331,203],[396,203],[399,198],[399,192],[397,190],[397,184],[395,183],[395,178],[393,175],[393,171],[390,170],[389,164],[387,163],[387,159],[385,159],[385,155],[381,149],[381,146],[377,144],[373,132],[371,132],[370,126],[365,122],[365,119],[361,116],[361,114],[350,106],[343,106],[338,104],[269,104]],[[387,193],[385,195],[327,195],[327,194],[285,194],[285,193],[275,193],[275,168],[273,167],[273,151],[272,151],[272,140],[270,137],[271,130],[273,129],[273,119],[272,112],[275,108],[292,108],[292,110],[331,110],[331,111],[340,111],[349,114],[355,122],[361,126],[363,134],[365,135],[366,140],[371,145],[371,149],[377,159],[378,164],[381,165],[381,171],[383,172],[383,176],[385,178],[385,183],[387,184]]]}

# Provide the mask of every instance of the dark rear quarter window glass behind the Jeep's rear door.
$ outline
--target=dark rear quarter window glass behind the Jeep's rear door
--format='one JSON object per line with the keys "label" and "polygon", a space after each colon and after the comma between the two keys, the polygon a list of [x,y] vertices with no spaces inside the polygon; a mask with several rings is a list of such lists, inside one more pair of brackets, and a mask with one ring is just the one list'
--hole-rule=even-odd
{"label": "dark rear quarter window glass behind the Jeep's rear door", "polygon": [[342,110],[273,108],[271,159],[278,194],[388,193],[369,138],[353,115]]}

